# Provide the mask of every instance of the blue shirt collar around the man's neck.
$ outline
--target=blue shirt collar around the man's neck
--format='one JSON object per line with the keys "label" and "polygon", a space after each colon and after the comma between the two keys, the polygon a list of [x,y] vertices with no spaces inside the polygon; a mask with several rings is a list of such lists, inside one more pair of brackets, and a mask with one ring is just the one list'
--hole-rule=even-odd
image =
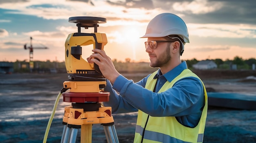
{"label": "blue shirt collar around the man's neck", "polygon": [[[187,69],[186,61],[182,61],[180,65],[177,65],[174,67],[171,71],[167,72],[163,76],[168,80],[168,82],[171,82],[176,76],[178,76],[184,69]],[[158,78],[159,76],[162,76],[162,72],[160,69],[158,69],[157,74],[155,74],[154,79]]]}

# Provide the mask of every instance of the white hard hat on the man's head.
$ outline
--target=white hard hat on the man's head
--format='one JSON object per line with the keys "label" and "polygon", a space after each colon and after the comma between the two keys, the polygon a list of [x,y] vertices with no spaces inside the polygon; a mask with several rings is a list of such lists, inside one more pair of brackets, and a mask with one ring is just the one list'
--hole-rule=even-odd
{"label": "white hard hat on the man's head", "polygon": [[146,33],[141,38],[166,37],[168,35],[178,35],[184,40],[184,43],[189,43],[189,32],[185,22],[175,14],[162,13],[148,23]]}

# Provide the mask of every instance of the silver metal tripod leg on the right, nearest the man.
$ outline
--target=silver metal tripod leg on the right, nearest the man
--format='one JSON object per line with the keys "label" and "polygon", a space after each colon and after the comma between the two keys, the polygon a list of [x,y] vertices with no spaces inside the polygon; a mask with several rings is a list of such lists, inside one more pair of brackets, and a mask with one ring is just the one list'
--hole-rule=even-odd
{"label": "silver metal tripod leg on the right, nearest the man", "polygon": [[119,143],[115,125],[103,126],[108,143]]}

